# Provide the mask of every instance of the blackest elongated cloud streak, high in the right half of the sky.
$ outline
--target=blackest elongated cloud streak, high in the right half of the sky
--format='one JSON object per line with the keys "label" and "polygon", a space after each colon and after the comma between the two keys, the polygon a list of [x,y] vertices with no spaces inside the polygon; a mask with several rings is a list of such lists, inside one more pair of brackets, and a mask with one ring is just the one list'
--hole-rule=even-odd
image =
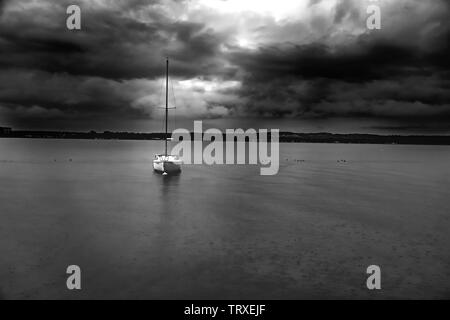
{"label": "blackest elongated cloud streak, high in the right half of the sky", "polygon": [[274,45],[257,52],[238,52],[232,61],[246,70],[254,80],[274,77],[333,78],[362,81],[383,78],[395,69],[415,66],[418,58],[409,48],[395,44],[365,44],[353,47],[329,48],[325,44],[285,46]]}

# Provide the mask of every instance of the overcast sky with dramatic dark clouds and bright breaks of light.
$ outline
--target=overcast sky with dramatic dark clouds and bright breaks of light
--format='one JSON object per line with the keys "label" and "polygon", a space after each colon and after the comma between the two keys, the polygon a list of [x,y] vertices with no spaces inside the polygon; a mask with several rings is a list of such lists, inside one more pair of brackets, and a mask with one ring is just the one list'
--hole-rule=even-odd
{"label": "overcast sky with dramatic dark clouds and bright breaks of light", "polygon": [[168,56],[180,124],[450,133],[448,1],[369,4],[0,0],[0,126],[157,131]]}

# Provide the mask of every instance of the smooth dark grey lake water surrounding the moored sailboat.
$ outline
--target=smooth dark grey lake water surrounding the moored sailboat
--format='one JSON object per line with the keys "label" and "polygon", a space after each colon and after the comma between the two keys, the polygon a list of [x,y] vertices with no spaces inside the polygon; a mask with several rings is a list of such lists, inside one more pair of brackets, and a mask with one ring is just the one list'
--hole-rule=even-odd
{"label": "smooth dark grey lake water surrounding the moored sailboat", "polygon": [[450,298],[449,147],[282,144],[276,176],[160,151],[0,139],[0,298]]}

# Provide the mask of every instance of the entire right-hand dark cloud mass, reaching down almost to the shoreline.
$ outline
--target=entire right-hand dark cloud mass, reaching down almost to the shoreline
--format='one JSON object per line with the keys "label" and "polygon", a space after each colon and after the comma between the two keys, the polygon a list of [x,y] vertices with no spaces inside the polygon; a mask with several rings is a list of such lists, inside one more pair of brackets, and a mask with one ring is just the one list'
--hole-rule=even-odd
{"label": "entire right-hand dark cloud mass, reaching down almost to the shoreline", "polygon": [[[441,11],[426,24],[394,29],[394,38],[387,32],[366,32],[344,44],[273,43],[234,51],[230,60],[245,71],[242,111],[275,117],[448,121],[450,22],[448,7],[440,4]],[[336,22],[351,15],[357,19],[351,5],[338,3]],[[430,25],[433,32],[420,36]]]}

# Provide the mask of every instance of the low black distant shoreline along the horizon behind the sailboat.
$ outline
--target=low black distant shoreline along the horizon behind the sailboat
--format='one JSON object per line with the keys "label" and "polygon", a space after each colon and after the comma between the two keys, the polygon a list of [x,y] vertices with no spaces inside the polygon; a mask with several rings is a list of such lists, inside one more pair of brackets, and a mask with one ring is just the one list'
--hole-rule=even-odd
{"label": "low black distant shoreline along the horizon behind the sailboat", "polygon": [[[191,133],[193,135],[193,133]],[[170,137],[170,135],[169,135]],[[163,140],[164,133],[136,132],[69,132],[69,131],[0,131],[0,138],[29,139],[89,139],[89,140]],[[224,136],[225,138],[225,136]],[[334,134],[280,132],[280,142],[290,143],[351,143],[351,144],[415,144],[415,145],[450,145],[450,136],[423,135],[376,135],[376,134]]]}

